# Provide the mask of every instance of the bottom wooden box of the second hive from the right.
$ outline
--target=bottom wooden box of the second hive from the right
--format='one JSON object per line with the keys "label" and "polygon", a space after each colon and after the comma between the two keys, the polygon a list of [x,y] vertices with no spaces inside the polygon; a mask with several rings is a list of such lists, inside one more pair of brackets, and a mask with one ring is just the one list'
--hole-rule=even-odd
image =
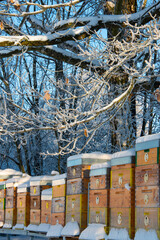
{"label": "bottom wooden box of the second hive from the right", "polygon": [[130,238],[135,233],[135,209],[134,208],[111,208],[110,209],[110,227],[126,228]]}

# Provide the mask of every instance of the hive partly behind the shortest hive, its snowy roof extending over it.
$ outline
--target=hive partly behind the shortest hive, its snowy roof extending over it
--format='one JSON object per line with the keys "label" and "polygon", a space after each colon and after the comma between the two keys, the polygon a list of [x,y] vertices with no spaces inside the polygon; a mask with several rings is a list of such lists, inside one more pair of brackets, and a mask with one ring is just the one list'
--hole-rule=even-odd
{"label": "hive partly behind the shortest hive, its snowy roof extending over it", "polygon": [[[53,176],[38,176],[30,179],[30,224],[41,223],[41,193],[52,188]],[[43,221],[44,219],[42,219]]]}

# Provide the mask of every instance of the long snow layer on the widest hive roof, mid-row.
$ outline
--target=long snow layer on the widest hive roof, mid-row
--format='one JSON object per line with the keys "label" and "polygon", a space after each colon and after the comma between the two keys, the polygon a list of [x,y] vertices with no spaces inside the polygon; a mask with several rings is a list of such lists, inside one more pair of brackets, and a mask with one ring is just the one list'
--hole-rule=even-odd
{"label": "long snow layer on the widest hive roof, mid-row", "polygon": [[77,155],[74,155],[74,156],[71,156],[69,157],[67,160],[70,161],[70,160],[75,160],[75,159],[79,159],[79,158],[82,158],[82,159],[94,159],[94,158],[97,158],[97,159],[111,159],[111,154],[107,154],[107,153],[101,153],[101,152],[93,152],[93,153],[82,153],[82,154],[77,154]]}

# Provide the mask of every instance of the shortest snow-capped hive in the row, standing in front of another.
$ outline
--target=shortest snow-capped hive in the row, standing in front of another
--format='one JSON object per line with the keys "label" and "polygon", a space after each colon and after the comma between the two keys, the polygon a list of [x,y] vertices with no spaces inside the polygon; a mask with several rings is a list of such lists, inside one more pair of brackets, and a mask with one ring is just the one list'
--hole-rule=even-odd
{"label": "shortest snow-capped hive in the row, standing in front of another", "polygon": [[41,223],[51,224],[52,188],[41,193]]}

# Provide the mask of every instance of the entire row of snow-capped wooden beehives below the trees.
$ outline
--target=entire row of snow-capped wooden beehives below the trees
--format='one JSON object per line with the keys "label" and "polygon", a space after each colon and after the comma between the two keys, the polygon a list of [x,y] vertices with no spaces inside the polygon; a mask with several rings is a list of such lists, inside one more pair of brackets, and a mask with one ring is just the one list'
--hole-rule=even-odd
{"label": "entire row of snow-capped wooden beehives below the trees", "polygon": [[[160,134],[156,134],[137,139],[136,152],[69,157],[67,174],[2,181],[1,225],[47,232],[49,225],[61,224],[65,227],[59,236],[82,232],[81,239],[89,239],[88,223],[103,224],[107,233],[110,228],[126,228],[130,238],[138,228],[159,234],[159,151]],[[51,236],[57,237],[54,231]]]}

